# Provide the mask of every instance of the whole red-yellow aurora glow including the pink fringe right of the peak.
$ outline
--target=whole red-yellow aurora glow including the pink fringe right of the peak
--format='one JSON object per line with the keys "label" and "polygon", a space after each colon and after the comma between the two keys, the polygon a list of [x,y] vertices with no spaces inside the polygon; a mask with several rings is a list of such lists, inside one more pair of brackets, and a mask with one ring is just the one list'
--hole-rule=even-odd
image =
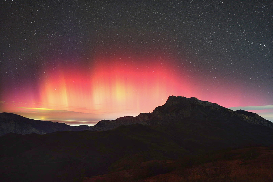
{"label": "whole red-yellow aurora glow including the pink fringe right of the peak", "polygon": [[171,59],[98,60],[89,69],[64,65],[45,67],[38,87],[27,85],[16,93],[17,97],[14,93],[6,95],[13,103],[2,104],[3,110],[29,113],[26,116],[45,120],[66,119],[64,111],[70,112],[70,119],[80,117],[79,113],[92,113],[85,114],[84,119],[93,116],[102,120],[151,112],[163,105],[169,95],[194,96],[225,107],[244,105],[240,94],[244,88],[239,84],[224,85],[227,81],[222,79],[207,85],[201,77],[195,78],[187,71],[181,74],[174,69],[176,66],[169,63],[174,62]]}

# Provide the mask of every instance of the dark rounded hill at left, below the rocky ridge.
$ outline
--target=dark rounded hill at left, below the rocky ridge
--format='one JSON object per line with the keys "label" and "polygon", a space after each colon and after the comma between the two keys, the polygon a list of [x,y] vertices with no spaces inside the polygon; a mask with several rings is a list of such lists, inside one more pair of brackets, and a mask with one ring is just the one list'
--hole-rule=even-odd
{"label": "dark rounded hill at left, below the rocky ridge", "polygon": [[140,153],[143,160],[151,160],[168,158],[161,152],[166,150],[187,153],[165,133],[139,124],[105,132],[8,134],[0,137],[0,144],[4,146],[1,172],[10,180],[35,181],[42,176],[46,181],[51,177],[61,180],[71,173],[73,177],[103,174],[125,155]]}

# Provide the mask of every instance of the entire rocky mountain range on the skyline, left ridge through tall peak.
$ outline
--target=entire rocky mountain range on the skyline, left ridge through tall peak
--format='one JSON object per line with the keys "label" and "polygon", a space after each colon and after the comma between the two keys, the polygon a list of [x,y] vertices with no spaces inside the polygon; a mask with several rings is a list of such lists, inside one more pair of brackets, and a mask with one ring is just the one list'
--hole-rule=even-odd
{"label": "entire rocky mountain range on the skyline, left ridge through tall peak", "polygon": [[201,101],[194,97],[169,96],[166,103],[163,106],[156,107],[152,113],[140,113],[136,117],[126,116],[112,121],[102,120],[93,127],[86,125],[69,126],[65,123],[32,120],[12,113],[0,113],[0,135],[9,132],[17,134],[46,134],[56,131],[106,131],[124,125],[144,124],[156,126],[185,119],[244,121],[273,128],[272,122],[256,113],[244,110],[234,112],[218,104]]}

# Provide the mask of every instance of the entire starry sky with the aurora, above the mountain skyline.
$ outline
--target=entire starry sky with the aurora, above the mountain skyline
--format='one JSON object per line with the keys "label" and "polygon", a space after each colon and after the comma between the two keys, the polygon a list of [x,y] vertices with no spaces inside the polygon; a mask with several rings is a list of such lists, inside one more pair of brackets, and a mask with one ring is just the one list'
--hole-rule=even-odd
{"label": "entire starry sky with the aurora, above the mountain skyline", "polygon": [[70,125],[197,97],[273,122],[272,1],[2,1],[0,112]]}

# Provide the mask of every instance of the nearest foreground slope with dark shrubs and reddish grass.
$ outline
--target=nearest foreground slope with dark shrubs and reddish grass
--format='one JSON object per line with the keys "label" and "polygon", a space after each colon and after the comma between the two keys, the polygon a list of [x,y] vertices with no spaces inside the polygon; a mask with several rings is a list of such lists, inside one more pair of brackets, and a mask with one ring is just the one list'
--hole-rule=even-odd
{"label": "nearest foreground slope with dark shrubs and reddish grass", "polygon": [[203,153],[184,156],[174,161],[138,162],[136,157],[125,157],[115,167],[109,174],[81,180],[84,182],[273,181],[273,147]]}

